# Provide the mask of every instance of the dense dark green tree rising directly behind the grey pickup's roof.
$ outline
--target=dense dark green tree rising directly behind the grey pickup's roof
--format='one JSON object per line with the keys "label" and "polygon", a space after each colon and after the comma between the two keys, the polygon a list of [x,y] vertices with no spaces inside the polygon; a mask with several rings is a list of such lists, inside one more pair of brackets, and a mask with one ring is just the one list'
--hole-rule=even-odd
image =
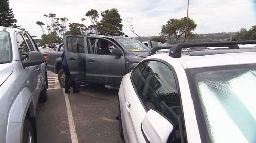
{"label": "dense dark green tree rising directly behind the grey pickup's roof", "polygon": [[123,33],[122,19],[117,9],[102,11],[101,16],[102,20],[97,24],[100,33]]}

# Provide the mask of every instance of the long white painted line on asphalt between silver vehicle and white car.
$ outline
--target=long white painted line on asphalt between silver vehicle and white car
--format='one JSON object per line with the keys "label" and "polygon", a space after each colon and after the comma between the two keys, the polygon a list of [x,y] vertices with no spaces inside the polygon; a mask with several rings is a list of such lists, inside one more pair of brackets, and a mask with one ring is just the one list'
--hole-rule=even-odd
{"label": "long white painted line on asphalt between silver vehicle and white car", "polygon": [[71,111],[71,107],[70,107],[70,103],[69,103],[69,97],[68,97],[68,94],[65,93],[65,89],[64,88],[62,88],[62,89],[63,89],[63,94],[65,97],[65,103],[66,103],[66,108],[67,108],[71,141],[72,141],[72,143],[78,143],[75,123],[74,123],[74,119],[73,119],[73,115],[72,115],[72,111]]}

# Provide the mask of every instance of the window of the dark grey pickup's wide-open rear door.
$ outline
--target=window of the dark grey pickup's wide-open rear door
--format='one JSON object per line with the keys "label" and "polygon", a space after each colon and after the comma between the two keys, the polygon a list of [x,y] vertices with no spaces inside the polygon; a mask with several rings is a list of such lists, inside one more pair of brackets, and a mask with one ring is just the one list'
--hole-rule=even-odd
{"label": "window of the dark grey pickup's wide-open rear door", "polygon": [[68,37],[67,48],[70,52],[84,53],[84,39],[83,37]]}

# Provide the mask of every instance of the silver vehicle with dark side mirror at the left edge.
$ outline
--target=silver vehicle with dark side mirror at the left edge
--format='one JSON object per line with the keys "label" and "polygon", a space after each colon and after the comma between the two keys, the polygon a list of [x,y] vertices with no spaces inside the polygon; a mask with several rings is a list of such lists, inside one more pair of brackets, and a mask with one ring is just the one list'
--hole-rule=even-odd
{"label": "silver vehicle with dark side mirror at the left edge", "polygon": [[0,75],[0,142],[36,142],[36,107],[47,101],[47,72],[25,31],[0,26]]}

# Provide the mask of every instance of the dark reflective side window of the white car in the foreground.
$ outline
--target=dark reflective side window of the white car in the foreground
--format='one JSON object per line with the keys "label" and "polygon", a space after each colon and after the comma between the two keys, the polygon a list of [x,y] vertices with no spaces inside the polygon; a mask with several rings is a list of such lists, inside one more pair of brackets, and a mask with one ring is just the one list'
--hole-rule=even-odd
{"label": "dark reflective side window of the white car in the foreground", "polygon": [[172,123],[174,131],[168,142],[180,142],[180,97],[172,70],[158,61],[140,63],[132,73],[132,82],[144,107],[158,111]]}

